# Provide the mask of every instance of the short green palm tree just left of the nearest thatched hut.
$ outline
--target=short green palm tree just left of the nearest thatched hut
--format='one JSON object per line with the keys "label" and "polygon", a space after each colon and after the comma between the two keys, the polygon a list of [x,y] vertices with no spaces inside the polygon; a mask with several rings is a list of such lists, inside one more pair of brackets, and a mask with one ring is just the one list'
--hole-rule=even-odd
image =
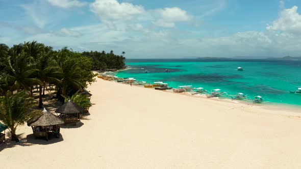
{"label": "short green palm tree just left of the nearest thatched hut", "polygon": [[7,92],[4,97],[0,98],[0,120],[9,127],[12,140],[18,140],[16,129],[19,125],[37,116],[31,112],[35,104],[34,99],[25,91],[14,94]]}

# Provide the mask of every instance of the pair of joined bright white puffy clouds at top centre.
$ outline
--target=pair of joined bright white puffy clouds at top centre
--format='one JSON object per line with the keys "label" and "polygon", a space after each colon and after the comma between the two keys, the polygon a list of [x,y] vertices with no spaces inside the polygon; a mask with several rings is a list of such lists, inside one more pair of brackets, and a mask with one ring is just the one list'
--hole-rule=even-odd
{"label": "pair of joined bright white puffy clouds at top centre", "polygon": [[116,29],[116,21],[153,21],[157,26],[174,27],[177,22],[190,21],[193,18],[178,7],[145,10],[143,6],[119,3],[117,0],[95,0],[90,9],[111,29]]}

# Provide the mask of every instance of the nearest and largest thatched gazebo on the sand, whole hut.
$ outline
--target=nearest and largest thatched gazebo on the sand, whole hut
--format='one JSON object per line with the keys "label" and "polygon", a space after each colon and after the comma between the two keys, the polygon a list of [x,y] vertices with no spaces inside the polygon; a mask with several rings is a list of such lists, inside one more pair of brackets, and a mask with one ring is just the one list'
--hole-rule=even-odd
{"label": "nearest and largest thatched gazebo on the sand, whole hut", "polygon": [[48,140],[48,134],[52,134],[57,138],[60,137],[61,124],[64,124],[63,119],[48,112],[45,108],[43,109],[41,116],[27,122],[27,125],[32,127],[35,138],[46,137],[46,140]]}

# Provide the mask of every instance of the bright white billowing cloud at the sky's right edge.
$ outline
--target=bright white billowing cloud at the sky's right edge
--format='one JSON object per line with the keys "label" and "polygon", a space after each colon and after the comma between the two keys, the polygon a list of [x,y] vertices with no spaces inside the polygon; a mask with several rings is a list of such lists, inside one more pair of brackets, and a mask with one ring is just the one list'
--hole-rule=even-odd
{"label": "bright white billowing cloud at the sky's right edge", "polygon": [[272,25],[268,25],[268,31],[282,31],[292,34],[301,33],[301,15],[297,12],[298,7],[293,6],[290,9],[284,9],[277,20]]}

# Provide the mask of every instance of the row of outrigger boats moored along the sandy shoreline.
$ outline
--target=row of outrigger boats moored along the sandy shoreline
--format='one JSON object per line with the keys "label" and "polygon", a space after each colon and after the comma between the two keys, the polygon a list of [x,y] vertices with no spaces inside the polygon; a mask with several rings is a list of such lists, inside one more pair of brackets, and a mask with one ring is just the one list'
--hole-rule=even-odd
{"label": "row of outrigger boats moored along the sandy shoreline", "polygon": [[[205,90],[204,88],[194,88],[193,86],[178,86],[177,88],[171,88],[168,86],[168,83],[164,83],[163,81],[156,81],[151,83],[147,83],[146,81],[138,81],[133,77],[130,78],[119,78],[115,76],[111,72],[105,72],[97,75],[98,78],[103,78],[104,80],[114,80],[117,82],[128,83],[136,86],[144,86],[144,88],[155,88],[155,90],[171,90],[174,93],[190,93],[192,95],[206,95],[207,98],[212,97],[223,97],[228,96],[233,100],[253,100],[253,103],[263,103],[265,102],[262,96],[255,96],[254,99],[251,97],[238,92],[233,95],[231,92],[222,91],[220,89],[213,90]],[[298,88],[296,91],[290,91],[290,93],[301,94],[301,88]]]}

